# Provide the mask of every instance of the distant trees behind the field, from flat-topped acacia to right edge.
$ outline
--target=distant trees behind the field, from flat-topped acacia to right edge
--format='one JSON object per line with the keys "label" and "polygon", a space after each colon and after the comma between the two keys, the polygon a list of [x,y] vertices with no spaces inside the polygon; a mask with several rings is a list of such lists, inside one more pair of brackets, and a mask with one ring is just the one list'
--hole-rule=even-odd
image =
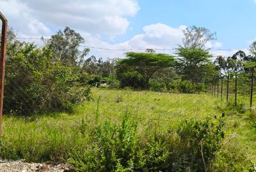
{"label": "distant trees behind the field, from flat-topped acacia to right edge", "polygon": [[[206,45],[216,39],[216,33],[205,27],[188,27],[184,30],[182,45],[177,45],[175,55],[157,54],[153,49],[146,52],[127,52],[125,58],[99,62],[88,59],[86,68],[99,76],[101,83],[109,87],[131,87],[172,92],[202,92],[215,78],[246,73],[256,62],[256,41],[250,47],[250,54],[238,50],[230,57],[211,54]],[[89,62],[90,61],[90,62]],[[99,66],[99,68],[95,68]],[[94,68],[95,70],[92,70]],[[102,71],[111,71],[111,75]],[[109,73],[110,74],[110,73]]]}

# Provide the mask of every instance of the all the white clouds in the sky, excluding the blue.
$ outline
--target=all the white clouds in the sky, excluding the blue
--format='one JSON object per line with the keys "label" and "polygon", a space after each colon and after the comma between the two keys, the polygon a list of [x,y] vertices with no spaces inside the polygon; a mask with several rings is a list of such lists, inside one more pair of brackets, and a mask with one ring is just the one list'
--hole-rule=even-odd
{"label": "all the white clouds in the sky, excluding the blue", "polygon": [[[124,57],[125,51],[120,49],[172,49],[182,44],[182,31],[186,26],[170,27],[161,23],[146,25],[141,34],[121,43],[102,41],[104,36],[115,38],[124,34],[129,29],[127,17],[136,15],[138,10],[140,7],[137,0],[0,0],[0,11],[8,18],[9,25],[18,31],[19,37],[47,37],[67,25],[81,33],[88,47],[118,49],[110,51],[91,48],[90,55],[104,59]],[[207,47],[220,48],[222,43],[209,42]],[[157,52],[173,54],[174,50]]]}

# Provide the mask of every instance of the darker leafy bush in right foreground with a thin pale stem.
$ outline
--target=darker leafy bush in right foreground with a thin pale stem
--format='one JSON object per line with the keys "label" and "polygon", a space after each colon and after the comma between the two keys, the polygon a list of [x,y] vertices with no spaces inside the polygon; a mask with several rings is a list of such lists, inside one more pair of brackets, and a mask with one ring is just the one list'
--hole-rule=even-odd
{"label": "darker leafy bush in right foreground with a thin pale stem", "polygon": [[221,148],[224,138],[223,114],[216,121],[206,118],[205,121],[184,120],[177,130],[180,137],[177,162],[173,162],[175,171],[205,171],[209,168],[212,159]]}

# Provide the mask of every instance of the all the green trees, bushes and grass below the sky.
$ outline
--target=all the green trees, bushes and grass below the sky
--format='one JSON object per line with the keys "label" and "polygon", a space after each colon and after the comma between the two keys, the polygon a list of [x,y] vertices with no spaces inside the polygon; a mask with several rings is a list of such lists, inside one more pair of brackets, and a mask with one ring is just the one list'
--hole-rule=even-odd
{"label": "all the green trees, bushes and grass below the sky", "polygon": [[76,171],[255,171],[248,94],[237,106],[205,94],[220,75],[248,80],[255,43],[250,55],[212,62],[205,44],[215,33],[193,26],[178,58],[148,48],[103,61],[86,59],[69,27],[42,47],[9,32],[2,159],[61,160]]}

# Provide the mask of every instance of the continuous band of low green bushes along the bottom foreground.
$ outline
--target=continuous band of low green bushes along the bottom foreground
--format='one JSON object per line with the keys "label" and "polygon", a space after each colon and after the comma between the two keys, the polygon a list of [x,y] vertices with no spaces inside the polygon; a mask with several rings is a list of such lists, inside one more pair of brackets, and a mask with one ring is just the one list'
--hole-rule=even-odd
{"label": "continuous band of low green bushes along the bottom foreground", "polygon": [[86,145],[70,150],[68,162],[77,171],[205,171],[224,137],[222,117],[185,120],[170,133],[152,132],[149,140],[128,115],[119,125],[106,121],[93,129],[82,122]]}

